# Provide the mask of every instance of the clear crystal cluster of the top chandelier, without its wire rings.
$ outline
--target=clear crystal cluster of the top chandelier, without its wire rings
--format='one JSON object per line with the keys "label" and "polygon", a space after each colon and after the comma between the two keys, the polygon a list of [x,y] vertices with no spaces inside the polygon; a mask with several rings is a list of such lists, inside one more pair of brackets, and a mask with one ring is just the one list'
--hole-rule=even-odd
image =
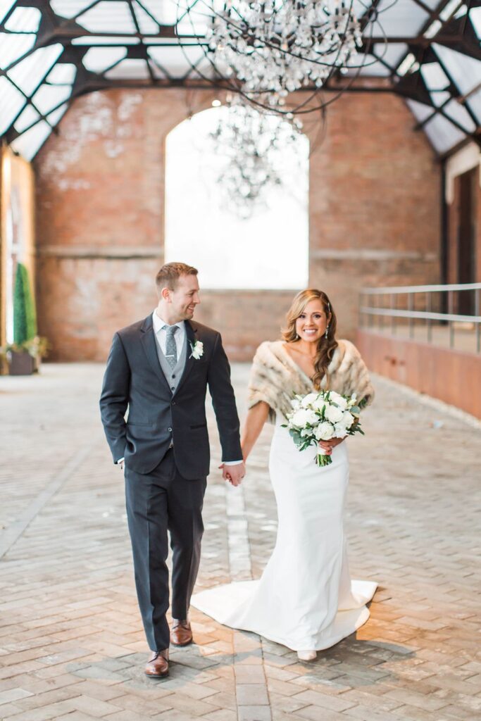
{"label": "clear crystal cluster of the top chandelier, without its wire rings", "polygon": [[228,0],[207,40],[221,74],[273,108],[301,87],[322,87],[362,45],[353,3],[344,0]]}

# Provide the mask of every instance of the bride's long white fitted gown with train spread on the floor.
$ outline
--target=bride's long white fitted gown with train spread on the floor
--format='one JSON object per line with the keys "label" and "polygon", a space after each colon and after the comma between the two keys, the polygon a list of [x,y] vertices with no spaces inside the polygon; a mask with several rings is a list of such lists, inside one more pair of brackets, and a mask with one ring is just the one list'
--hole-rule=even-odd
{"label": "bride's long white fitted gown with train spread on the floor", "polygon": [[262,577],[204,590],[192,605],[292,650],[321,650],[366,623],[376,583],[350,580],[343,530],[347,443],[319,468],[317,449],[298,451],[285,422],[278,413],[269,460],[278,535]]}

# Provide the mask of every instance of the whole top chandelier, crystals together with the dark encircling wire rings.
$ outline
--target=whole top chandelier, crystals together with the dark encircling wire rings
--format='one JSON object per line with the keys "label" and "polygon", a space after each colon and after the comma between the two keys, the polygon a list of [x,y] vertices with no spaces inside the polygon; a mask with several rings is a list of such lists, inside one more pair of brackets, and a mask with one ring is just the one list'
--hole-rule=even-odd
{"label": "whole top chandelier, crystals together with the dark encircling wire rings", "polygon": [[180,45],[196,76],[289,117],[322,110],[382,62],[388,45],[380,17],[397,0],[356,0],[358,15],[355,0],[175,2],[177,26],[190,25],[202,53],[194,58]]}

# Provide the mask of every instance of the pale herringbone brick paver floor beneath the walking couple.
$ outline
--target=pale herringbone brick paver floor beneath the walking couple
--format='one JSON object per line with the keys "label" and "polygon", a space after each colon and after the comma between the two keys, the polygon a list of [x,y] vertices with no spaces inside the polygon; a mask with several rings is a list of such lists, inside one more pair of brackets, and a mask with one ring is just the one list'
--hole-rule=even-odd
{"label": "pale herringbone brick paver floor beneath the walking couple", "polygon": [[[234,366],[239,407],[247,366]],[[196,644],[144,676],[123,479],[97,413],[102,367],[0,378],[0,719],[481,719],[481,430],[376,380],[349,441],[350,565],[371,618],[315,663],[193,611]],[[199,587],[257,577],[275,541],[270,428],[242,490],[212,473]]]}

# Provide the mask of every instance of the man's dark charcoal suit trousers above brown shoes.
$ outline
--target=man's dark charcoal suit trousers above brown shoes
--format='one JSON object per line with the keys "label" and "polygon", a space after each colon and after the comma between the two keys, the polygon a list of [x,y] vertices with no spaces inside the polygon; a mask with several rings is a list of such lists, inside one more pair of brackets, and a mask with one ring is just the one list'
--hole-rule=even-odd
{"label": "man's dark charcoal suit trousers above brown shoes", "polygon": [[153,651],[168,648],[170,642],[165,617],[169,608],[167,530],[172,548],[172,617],[187,619],[200,562],[206,482],[206,478],[183,478],[175,466],[172,450],[149,474],[125,467],[125,499],[138,605]]}

